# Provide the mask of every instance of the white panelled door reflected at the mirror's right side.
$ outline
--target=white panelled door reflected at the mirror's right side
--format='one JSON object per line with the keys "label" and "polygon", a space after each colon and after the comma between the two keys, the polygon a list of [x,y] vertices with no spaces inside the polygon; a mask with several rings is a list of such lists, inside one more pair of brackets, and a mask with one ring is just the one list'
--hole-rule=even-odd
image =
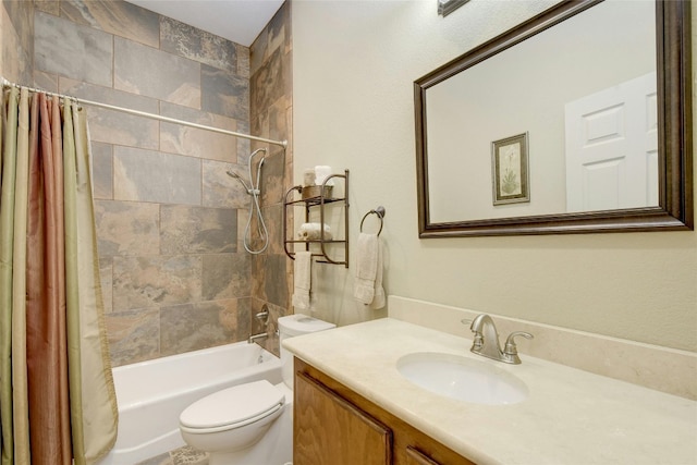
{"label": "white panelled door reflected at the mirror's right side", "polygon": [[565,106],[566,210],[658,205],[656,73]]}

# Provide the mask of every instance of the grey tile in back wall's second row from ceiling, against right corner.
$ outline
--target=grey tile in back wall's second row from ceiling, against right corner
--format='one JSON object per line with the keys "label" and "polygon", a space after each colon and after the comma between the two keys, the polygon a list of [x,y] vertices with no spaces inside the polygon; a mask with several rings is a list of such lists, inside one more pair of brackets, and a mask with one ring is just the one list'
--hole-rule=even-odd
{"label": "grey tile in back wall's second row from ceiling, against right corner", "polygon": [[249,81],[229,71],[201,65],[201,109],[249,120]]}

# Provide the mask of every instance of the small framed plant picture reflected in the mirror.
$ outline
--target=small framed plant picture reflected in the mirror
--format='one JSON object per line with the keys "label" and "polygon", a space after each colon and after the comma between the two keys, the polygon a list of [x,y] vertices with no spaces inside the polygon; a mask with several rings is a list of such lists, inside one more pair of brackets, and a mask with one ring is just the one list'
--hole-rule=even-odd
{"label": "small framed plant picture reflected in the mirror", "polygon": [[491,143],[493,205],[530,201],[527,133]]}

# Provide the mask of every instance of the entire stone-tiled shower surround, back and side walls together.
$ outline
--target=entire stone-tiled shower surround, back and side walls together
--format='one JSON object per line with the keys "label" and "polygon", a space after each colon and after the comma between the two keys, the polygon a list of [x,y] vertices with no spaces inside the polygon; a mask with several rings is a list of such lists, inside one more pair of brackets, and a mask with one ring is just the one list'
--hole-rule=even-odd
{"label": "entire stone-tiled shower surround, back and side walls together", "polygon": [[[276,50],[290,65],[288,7],[253,46],[262,54],[250,62],[246,47],[119,0],[3,5],[2,73],[11,81],[231,131],[290,134],[290,70],[272,69]],[[259,330],[253,311],[264,303],[284,314],[280,217],[267,220],[265,260],[282,264],[283,276],[272,271],[272,284],[253,286],[267,272],[242,246],[249,198],[225,174],[246,176],[257,146],[111,110],[90,107],[88,115],[113,365],[245,340]],[[273,215],[291,158],[269,149],[262,205]]]}

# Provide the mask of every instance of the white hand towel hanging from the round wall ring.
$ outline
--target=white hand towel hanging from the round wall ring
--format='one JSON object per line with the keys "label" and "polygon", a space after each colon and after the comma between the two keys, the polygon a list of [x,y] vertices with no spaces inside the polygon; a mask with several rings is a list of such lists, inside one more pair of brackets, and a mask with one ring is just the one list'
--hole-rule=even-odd
{"label": "white hand towel hanging from the round wall ring", "polygon": [[382,308],[382,250],[378,235],[358,234],[356,254],[356,283],[353,295],[364,305],[370,305],[370,308]]}

